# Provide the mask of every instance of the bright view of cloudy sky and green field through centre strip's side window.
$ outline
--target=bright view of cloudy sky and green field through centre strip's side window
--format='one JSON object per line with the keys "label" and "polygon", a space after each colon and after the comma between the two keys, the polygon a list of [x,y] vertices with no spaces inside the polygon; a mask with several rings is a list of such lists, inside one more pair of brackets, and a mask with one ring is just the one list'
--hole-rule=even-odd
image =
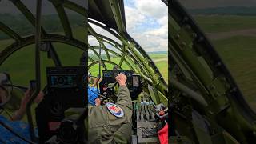
{"label": "bright view of cloudy sky and green field through centre strip's side window", "polygon": [[168,82],[168,8],[161,0],[125,0],[127,31]]}

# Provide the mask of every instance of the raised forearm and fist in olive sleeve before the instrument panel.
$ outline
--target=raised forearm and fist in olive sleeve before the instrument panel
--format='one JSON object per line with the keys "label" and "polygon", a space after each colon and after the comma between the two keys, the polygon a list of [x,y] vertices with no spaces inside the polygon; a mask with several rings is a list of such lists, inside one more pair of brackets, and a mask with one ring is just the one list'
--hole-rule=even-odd
{"label": "raised forearm and fist in olive sleeve before the instrument panel", "polygon": [[126,87],[126,79],[127,78],[126,78],[125,74],[118,74],[118,76],[116,77],[116,80],[119,83],[117,104],[120,104],[122,106],[128,106],[129,108],[132,108],[130,91]]}

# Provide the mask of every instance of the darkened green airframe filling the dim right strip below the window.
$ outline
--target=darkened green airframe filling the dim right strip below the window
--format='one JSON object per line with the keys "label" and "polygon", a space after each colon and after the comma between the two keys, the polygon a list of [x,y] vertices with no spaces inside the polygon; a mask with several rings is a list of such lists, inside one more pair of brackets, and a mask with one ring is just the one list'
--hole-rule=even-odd
{"label": "darkened green airframe filling the dim right strip below the window", "polygon": [[214,46],[177,1],[169,3],[171,142],[254,143],[256,115]]}

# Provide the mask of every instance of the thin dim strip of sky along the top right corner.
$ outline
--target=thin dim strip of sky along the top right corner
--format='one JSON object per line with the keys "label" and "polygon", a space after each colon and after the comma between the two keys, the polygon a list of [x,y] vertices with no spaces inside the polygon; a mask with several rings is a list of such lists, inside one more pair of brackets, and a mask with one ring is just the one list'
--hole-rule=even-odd
{"label": "thin dim strip of sky along the top right corner", "polygon": [[178,0],[186,8],[256,6],[256,0]]}

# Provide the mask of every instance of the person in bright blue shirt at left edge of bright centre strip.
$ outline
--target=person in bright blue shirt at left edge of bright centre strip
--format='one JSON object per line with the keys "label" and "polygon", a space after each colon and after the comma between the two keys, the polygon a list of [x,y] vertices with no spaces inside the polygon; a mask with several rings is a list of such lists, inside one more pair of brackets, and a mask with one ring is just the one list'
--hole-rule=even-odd
{"label": "person in bright blue shirt at left edge of bright centre strip", "polygon": [[[88,82],[90,82],[91,74],[88,73]],[[94,106],[95,99],[98,98],[98,89],[97,89],[97,83],[100,82],[101,79],[94,78],[94,84],[92,86],[88,85],[88,102],[90,106]]]}

